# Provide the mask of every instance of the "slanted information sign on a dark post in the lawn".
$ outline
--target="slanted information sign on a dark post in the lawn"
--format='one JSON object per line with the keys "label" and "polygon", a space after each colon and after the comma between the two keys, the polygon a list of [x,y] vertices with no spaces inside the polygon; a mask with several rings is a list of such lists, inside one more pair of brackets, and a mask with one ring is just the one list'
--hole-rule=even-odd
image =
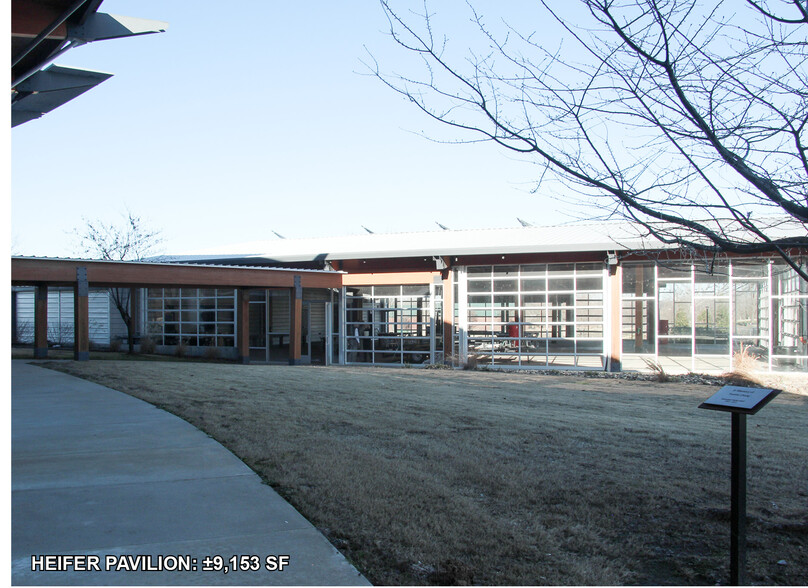
{"label": "slanted information sign on a dark post in the lawn", "polygon": [[732,413],[732,473],[730,506],[730,584],[746,578],[746,415],[755,414],[780,393],[770,388],[724,386],[699,408]]}

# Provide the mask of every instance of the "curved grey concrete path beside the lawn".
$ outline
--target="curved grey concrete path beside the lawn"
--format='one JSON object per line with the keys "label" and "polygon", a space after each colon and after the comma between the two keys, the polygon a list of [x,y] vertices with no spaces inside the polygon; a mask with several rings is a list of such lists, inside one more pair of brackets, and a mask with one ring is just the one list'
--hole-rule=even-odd
{"label": "curved grey concrete path beside the lawn", "polygon": [[[21,360],[12,361],[11,389],[13,584],[369,585],[252,470],[185,421]],[[88,556],[91,571],[42,569],[65,561],[48,555]],[[204,571],[216,555],[225,565],[255,555],[261,566]],[[267,570],[266,557],[280,555],[289,556],[283,571]],[[115,571],[148,567],[136,556],[196,571]]]}

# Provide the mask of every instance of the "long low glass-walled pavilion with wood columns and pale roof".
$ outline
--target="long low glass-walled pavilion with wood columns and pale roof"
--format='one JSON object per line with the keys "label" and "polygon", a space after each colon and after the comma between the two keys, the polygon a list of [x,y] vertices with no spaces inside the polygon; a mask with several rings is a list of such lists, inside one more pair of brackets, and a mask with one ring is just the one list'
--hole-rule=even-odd
{"label": "long low glass-walled pavilion with wood columns and pale roof", "polygon": [[40,354],[54,315],[78,324],[51,298],[79,292],[82,267],[96,324],[83,328],[101,346],[122,335],[114,309],[101,327],[99,288],[119,286],[137,290],[141,341],[243,362],[709,372],[744,355],[808,370],[808,284],[781,258],[688,257],[627,224],[278,239],[142,264],[14,258],[18,340],[36,339],[20,329],[36,300]]}

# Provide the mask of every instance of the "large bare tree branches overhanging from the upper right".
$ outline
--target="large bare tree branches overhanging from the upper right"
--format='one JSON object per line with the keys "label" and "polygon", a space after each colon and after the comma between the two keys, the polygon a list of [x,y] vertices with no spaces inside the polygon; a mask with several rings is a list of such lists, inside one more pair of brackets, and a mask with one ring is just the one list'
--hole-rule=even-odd
{"label": "large bare tree branches overhanging from the upper right", "polygon": [[[808,280],[808,2],[579,0],[574,17],[540,4],[538,32],[469,4],[483,48],[458,57],[429,6],[381,0],[418,59],[407,73],[368,65],[458,140],[539,163],[537,193],[560,181],[663,243],[774,253]],[[553,25],[559,47],[542,41]]]}

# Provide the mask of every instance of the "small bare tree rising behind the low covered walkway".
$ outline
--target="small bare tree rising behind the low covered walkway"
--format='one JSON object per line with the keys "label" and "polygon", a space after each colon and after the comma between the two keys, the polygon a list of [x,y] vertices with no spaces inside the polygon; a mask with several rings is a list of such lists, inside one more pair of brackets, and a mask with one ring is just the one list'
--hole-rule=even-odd
{"label": "small bare tree rising behind the low covered walkway", "polygon": [[[126,213],[123,223],[106,224],[84,218],[84,227],[75,231],[83,253],[107,261],[143,261],[155,253],[162,242],[159,230],[149,228],[139,216]],[[110,298],[126,325],[129,353],[135,352],[136,317],[131,288],[110,288]]]}

